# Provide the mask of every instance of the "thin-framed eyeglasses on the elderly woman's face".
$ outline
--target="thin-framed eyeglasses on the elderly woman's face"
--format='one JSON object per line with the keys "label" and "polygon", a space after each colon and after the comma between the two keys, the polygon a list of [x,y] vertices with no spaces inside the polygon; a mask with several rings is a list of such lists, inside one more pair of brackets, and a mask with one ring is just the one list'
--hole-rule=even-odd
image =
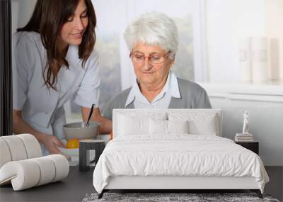
{"label": "thin-framed eyeglasses on the elderly woman's face", "polygon": [[170,51],[168,51],[166,54],[152,54],[149,56],[144,56],[140,53],[132,54],[131,52],[129,54],[129,57],[132,59],[132,62],[134,63],[144,63],[147,57],[151,64],[158,64],[164,62],[165,58],[168,56],[169,53]]}

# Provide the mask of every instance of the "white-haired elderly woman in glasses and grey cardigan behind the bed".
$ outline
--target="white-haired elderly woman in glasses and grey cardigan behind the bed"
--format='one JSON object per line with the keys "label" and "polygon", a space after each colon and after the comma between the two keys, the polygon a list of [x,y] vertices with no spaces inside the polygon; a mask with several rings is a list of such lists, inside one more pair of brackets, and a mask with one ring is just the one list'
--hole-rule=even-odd
{"label": "white-haired elderly woman in glasses and grey cardigan behind the bed", "polygon": [[125,31],[137,81],[114,96],[104,116],[114,108],[211,108],[207,93],[194,82],[170,71],[178,50],[178,30],[163,13],[146,13]]}

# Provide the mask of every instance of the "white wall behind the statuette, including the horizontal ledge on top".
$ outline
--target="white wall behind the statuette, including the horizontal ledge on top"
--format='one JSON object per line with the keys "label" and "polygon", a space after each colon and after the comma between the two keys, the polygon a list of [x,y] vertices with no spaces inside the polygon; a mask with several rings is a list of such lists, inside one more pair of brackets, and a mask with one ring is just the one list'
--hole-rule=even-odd
{"label": "white wall behind the statuette, including the horizontal ledge on top", "polygon": [[204,84],[212,107],[223,111],[222,136],[242,133],[243,113],[250,115],[250,133],[260,142],[267,166],[283,166],[283,85]]}

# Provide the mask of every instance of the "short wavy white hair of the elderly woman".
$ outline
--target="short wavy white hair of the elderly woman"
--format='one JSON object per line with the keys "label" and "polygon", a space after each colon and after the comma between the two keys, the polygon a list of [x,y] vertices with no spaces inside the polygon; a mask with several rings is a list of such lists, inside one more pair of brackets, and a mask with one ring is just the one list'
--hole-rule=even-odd
{"label": "short wavy white hair of the elderly woman", "polygon": [[178,50],[178,29],[172,18],[156,11],[144,13],[129,24],[124,33],[129,50],[138,43],[146,45],[159,45],[170,51],[169,57],[173,59]]}

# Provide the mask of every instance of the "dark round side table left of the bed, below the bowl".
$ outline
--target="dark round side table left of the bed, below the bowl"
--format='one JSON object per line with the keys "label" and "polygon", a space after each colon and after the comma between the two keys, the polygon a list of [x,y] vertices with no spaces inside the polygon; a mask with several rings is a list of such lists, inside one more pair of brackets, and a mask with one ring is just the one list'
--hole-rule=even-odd
{"label": "dark round side table left of the bed, below the bowl", "polygon": [[96,150],[94,161],[98,162],[100,155],[105,148],[106,140],[80,140],[79,141],[79,170],[87,171],[89,169],[89,150]]}

